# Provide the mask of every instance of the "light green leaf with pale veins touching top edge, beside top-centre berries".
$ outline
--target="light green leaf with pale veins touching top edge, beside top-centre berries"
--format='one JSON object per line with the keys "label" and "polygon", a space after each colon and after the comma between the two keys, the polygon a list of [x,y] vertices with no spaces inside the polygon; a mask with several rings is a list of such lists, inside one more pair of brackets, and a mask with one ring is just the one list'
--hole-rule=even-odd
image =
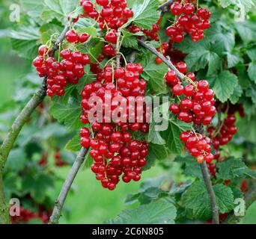
{"label": "light green leaf with pale veins touching top edge, beside top-centre berries", "polygon": [[129,19],[123,28],[134,23],[141,28],[151,29],[152,25],[159,19],[160,11],[157,10],[159,7],[158,0],[132,0],[128,1],[128,7],[132,8],[134,16],[132,19]]}

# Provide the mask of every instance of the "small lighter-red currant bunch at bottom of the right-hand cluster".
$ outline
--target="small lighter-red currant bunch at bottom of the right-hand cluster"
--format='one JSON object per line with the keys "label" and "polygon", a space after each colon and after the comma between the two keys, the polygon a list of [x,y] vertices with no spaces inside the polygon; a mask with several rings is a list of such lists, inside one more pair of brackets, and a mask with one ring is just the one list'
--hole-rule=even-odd
{"label": "small lighter-red currant bunch at bottom of the right-hand cluster", "polygon": [[192,131],[185,131],[180,134],[180,140],[185,143],[190,154],[196,158],[199,164],[203,161],[210,163],[214,156],[211,154],[211,140],[209,137],[203,136]]}

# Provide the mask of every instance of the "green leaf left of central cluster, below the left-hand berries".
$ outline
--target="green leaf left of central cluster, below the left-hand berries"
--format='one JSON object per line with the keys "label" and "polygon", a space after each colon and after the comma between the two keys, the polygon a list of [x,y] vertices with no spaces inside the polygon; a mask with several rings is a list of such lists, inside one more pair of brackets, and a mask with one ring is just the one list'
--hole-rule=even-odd
{"label": "green leaf left of central cluster, below the left-hand berries", "polygon": [[50,108],[52,117],[58,122],[63,122],[69,130],[78,130],[82,128],[82,122],[80,122],[81,106],[79,102],[75,100],[68,102],[67,104],[54,103]]}

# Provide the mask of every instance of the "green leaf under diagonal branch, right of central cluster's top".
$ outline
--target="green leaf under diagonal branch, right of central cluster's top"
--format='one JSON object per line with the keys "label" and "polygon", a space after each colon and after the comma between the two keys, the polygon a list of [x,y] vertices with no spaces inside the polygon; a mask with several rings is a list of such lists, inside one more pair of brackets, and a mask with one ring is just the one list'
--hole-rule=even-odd
{"label": "green leaf under diagonal branch, right of central cluster's top", "polygon": [[156,64],[155,56],[144,55],[144,59],[141,61],[141,65],[144,67],[144,71],[141,76],[146,81],[149,81],[150,87],[154,93],[167,93],[167,86],[163,81],[163,78],[168,71],[168,66],[164,63]]}

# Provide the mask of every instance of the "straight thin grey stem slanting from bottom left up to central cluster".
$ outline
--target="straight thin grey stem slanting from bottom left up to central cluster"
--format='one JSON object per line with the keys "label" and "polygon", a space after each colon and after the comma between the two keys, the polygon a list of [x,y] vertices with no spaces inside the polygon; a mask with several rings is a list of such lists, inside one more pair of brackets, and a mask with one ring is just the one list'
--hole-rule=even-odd
{"label": "straight thin grey stem slanting from bottom left up to central cluster", "polygon": [[61,188],[61,192],[58,196],[58,199],[55,202],[55,207],[52,211],[52,216],[49,220],[49,224],[58,224],[58,220],[61,217],[61,210],[63,208],[64,202],[67,198],[67,193],[70,191],[71,185],[73,184],[76,174],[78,173],[82,163],[85,161],[85,155],[88,152],[88,149],[82,148],[79,154],[76,157],[70,173],[67,175],[67,178]]}

